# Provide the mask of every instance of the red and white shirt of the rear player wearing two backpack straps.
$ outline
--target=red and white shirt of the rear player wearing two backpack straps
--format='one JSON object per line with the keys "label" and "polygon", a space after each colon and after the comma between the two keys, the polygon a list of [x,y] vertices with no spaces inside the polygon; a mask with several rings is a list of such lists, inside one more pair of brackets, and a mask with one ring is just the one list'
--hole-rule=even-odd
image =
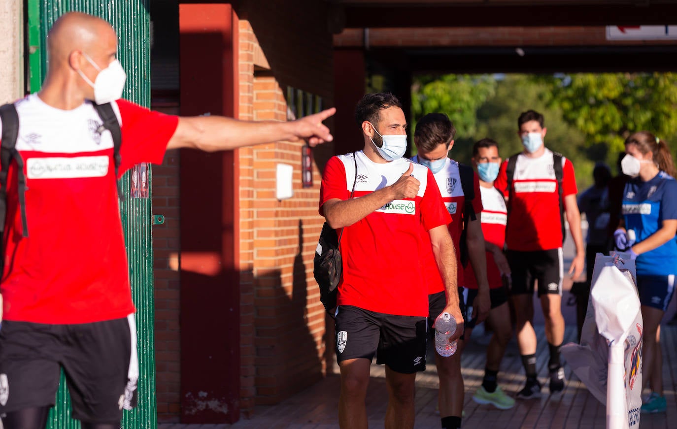
{"label": "red and white shirt of the rear player wearing two backpack straps", "polygon": [[[519,154],[515,164],[510,196],[507,189],[506,168],[508,160],[501,165],[494,182],[496,189],[512,198],[508,202],[510,214],[506,229],[508,249],[531,252],[562,247],[562,224],[559,212],[559,191],[554,175],[552,152],[546,149],[538,158]],[[576,194],[576,179],[573,164],[562,157],[563,197]]]}

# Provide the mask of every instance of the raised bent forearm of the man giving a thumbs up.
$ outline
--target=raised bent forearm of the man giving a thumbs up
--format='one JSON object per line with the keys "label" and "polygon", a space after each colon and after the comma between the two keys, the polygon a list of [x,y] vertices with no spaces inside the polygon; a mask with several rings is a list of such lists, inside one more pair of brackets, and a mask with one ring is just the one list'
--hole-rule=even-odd
{"label": "raised bent forearm of the man giving a thumbs up", "polygon": [[384,187],[359,198],[328,201],[324,203],[324,217],[334,229],[347,227],[394,199],[391,188]]}

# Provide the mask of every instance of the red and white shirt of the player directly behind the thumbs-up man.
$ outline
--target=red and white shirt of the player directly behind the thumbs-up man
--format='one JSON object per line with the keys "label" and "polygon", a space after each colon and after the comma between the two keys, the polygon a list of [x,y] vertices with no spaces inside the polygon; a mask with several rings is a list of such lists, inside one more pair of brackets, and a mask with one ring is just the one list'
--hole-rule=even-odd
{"label": "red and white shirt of the player directly behind the thumbs-up man", "polygon": [[[418,162],[418,156],[412,158],[414,162]],[[460,173],[458,172],[458,162],[447,158],[444,167],[435,173],[435,183],[439,187],[439,192],[442,196],[444,205],[452,217],[452,222],[447,225],[449,233],[454,242],[454,250],[456,250],[456,267],[458,267],[458,286],[465,286],[465,273],[461,265],[461,251],[460,240],[463,232],[463,210],[465,207],[465,195],[463,194],[463,187],[461,186]],[[482,211],[482,201],[479,198],[479,179],[477,175],[473,175],[473,188],[475,188],[475,198],[473,199],[473,210],[475,213]],[[428,238],[429,240],[429,238]],[[432,251],[428,255],[422,256],[424,259],[424,276],[428,281],[429,294],[436,294],[444,290],[444,283],[439,275],[437,262],[433,256]],[[472,267],[468,266],[468,270]]]}

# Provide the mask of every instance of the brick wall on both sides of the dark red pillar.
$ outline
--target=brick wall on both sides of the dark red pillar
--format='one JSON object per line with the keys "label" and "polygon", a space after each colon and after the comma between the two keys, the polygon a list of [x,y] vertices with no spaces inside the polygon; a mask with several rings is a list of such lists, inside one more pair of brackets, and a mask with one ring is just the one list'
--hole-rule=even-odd
{"label": "brick wall on both sides of the dark red pillar", "polygon": [[[328,5],[286,0],[257,7],[240,1],[240,106],[243,120],[285,120],[286,85],[333,104],[332,36]],[[255,52],[265,62],[257,64]],[[260,55],[259,57],[260,58]],[[259,61],[260,63],[260,61]],[[330,122],[331,125],[331,122]],[[324,374],[325,315],[312,275],[312,258],[323,219],[314,187],[301,188],[302,143],[271,143],[236,151],[240,178],[241,416],[255,403],[274,403]],[[316,160],[333,146],[313,150]],[[275,166],[294,166],[294,196],[275,198]],[[165,214],[154,233],[156,286],[156,386],[158,421],[178,422],[179,380],[179,156],[168,152],[153,170],[153,212]],[[301,229],[299,230],[299,225]],[[300,243],[303,243],[299,248]]]}

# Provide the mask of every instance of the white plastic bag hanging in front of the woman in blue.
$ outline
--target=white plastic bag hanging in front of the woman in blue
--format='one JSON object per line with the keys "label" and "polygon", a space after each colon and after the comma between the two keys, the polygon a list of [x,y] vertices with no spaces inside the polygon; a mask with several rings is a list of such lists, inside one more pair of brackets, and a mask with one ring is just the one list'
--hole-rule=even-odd
{"label": "white plastic bag hanging in front of the woman in blue", "polygon": [[581,342],[562,347],[574,373],[607,405],[611,429],[638,428],[642,406],[642,314],[629,256],[596,255]]}

